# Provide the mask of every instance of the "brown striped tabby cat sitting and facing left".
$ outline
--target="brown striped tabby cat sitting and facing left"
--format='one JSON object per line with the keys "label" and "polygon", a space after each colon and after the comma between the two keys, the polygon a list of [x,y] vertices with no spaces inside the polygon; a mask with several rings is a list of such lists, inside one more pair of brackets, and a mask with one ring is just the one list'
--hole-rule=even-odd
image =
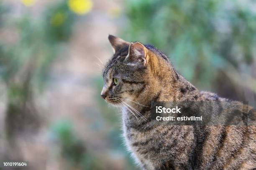
{"label": "brown striped tabby cat sitting and facing left", "polygon": [[113,57],[104,70],[101,97],[123,110],[123,135],[144,170],[253,170],[256,126],[158,125],[153,101],[231,100],[200,92],[153,45],[109,35]]}

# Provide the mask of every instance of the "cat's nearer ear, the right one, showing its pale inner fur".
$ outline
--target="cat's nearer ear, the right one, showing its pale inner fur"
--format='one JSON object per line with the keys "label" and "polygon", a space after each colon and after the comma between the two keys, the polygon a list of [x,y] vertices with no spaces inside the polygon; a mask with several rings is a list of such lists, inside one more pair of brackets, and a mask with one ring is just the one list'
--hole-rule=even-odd
{"label": "cat's nearer ear, the right one, showing its pale inner fur", "polygon": [[143,64],[145,66],[147,64],[146,51],[146,47],[140,42],[131,42],[128,55],[125,58],[125,62],[128,62],[132,65]]}

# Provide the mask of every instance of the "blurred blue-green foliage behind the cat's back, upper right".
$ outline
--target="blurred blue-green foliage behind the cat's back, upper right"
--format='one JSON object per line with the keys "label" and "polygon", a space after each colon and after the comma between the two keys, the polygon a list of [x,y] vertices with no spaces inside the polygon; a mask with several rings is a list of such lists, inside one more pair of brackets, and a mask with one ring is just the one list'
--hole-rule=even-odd
{"label": "blurred blue-green foliage behind the cat's back, upper right", "polygon": [[[195,85],[223,90],[222,93],[232,96],[234,88],[222,89],[223,81],[233,82],[239,75],[237,70],[245,65],[246,71],[253,72],[250,67],[256,58],[253,4],[253,1],[230,0],[128,0],[129,23],[124,36],[163,50],[179,72]],[[241,76],[238,79],[243,80]],[[246,82],[254,81],[249,77]],[[220,83],[222,87],[217,86]],[[256,87],[247,87],[256,92]]]}

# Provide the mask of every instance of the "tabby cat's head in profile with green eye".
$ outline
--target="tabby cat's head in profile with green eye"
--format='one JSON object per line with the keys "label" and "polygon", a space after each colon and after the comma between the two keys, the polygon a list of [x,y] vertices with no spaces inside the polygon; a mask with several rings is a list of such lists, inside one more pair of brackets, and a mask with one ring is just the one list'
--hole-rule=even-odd
{"label": "tabby cat's head in profile with green eye", "polygon": [[[115,54],[103,70],[102,98],[118,105],[124,100],[135,100],[146,86],[155,81],[150,72],[154,52],[140,42],[126,42],[118,37],[108,37]],[[151,58],[151,59],[150,59]]]}

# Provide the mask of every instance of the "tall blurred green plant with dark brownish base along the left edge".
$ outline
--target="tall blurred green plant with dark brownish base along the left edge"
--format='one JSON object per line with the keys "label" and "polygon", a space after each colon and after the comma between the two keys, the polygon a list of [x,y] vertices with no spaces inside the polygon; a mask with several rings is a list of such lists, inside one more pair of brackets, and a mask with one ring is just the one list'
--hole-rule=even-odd
{"label": "tall blurred green plant with dark brownish base along the left edge", "polygon": [[[31,5],[33,1],[22,2]],[[0,12],[3,8],[0,3]],[[7,87],[5,125],[10,139],[40,126],[42,117],[38,117],[33,93],[46,84],[51,63],[64,51],[63,46],[72,35],[75,18],[67,1],[61,0],[50,4],[40,20],[34,20],[29,10],[18,21],[2,19],[3,28],[18,32],[17,41],[12,44],[0,42],[0,78]]]}

